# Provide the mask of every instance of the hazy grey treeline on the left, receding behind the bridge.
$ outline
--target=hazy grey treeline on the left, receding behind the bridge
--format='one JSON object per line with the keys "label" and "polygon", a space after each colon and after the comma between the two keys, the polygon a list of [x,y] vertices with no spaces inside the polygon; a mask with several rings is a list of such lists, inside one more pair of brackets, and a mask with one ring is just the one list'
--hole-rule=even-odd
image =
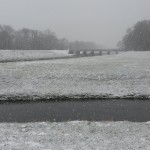
{"label": "hazy grey treeline on the left, receding behind the bridge", "polygon": [[23,28],[14,30],[11,26],[0,25],[0,49],[16,50],[52,50],[95,48],[93,42],[59,39],[49,29],[45,31]]}

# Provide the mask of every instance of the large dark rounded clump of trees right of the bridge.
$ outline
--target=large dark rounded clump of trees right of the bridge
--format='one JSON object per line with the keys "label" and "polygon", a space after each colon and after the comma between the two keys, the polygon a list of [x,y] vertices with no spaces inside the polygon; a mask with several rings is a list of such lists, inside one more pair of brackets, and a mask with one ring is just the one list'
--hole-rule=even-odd
{"label": "large dark rounded clump of trees right of the bridge", "polygon": [[150,20],[139,21],[128,29],[118,46],[127,50],[150,50]]}

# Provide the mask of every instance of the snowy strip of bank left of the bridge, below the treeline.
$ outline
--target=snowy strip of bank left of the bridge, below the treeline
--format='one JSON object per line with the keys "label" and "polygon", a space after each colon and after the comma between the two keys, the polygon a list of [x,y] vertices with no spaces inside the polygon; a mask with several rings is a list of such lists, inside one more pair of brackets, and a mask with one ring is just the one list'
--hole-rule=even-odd
{"label": "snowy strip of bank left of the bridge, below the treeline", "polygon": [[0,50],[0,62],[47,60],[70,57],[68,50]]}

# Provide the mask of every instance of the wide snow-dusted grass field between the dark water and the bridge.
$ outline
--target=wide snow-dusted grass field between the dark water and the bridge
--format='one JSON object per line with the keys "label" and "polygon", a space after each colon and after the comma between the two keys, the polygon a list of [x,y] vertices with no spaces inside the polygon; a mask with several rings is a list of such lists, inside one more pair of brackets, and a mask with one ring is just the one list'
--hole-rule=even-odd
{"label": "wide snow-dusted grass field between the dark water and the bridge", "polygon": [[150,52],[0,63],[0,100],[150,99]]}

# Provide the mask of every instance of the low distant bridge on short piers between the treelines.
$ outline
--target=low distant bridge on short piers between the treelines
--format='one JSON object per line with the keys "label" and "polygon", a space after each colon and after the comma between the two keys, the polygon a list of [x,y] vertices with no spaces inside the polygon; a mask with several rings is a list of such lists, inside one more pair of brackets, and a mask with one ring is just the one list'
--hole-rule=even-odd
{"label": "low distant bridge on short piers between the treelines", "polygon": [[126,50],[120,49],[82,49],[82,50],[69,50],[69,54],[75,54],[76,56],[100,56],[103,54],[118,54],[125,52]]}

